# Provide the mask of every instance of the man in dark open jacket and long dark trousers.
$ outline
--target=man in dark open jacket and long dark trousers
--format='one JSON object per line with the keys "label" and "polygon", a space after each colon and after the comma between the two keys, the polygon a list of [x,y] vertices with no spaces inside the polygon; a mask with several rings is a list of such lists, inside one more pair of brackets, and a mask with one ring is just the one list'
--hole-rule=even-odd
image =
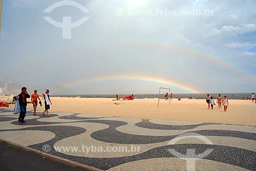
{"label": "man in dark open jacket and long dark trousers", "polygon": [[27,113],[27,98],[30,98],[30,95],[27,91],[26,87],[22,87],[22,93],[17,95],[17,100],[19,102],[20,113],[18,117],[18,121],[20,123],[26,123],[24,120]]}

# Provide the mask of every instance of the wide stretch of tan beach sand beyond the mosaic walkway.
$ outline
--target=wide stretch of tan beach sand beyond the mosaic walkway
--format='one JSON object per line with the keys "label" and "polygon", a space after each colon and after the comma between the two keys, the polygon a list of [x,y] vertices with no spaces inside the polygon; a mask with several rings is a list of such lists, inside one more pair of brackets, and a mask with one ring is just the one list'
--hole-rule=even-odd
{"label": "wide stretch of tan beach sand beyond the mosaic walkway", "polygon": [[[72,97],[51,97],[53,111],[96,114],[103,116],[119,116],[143,119],[165,119],[198,121],[204,123],[223,123],[256,126],[256,104],[252,101],[228,100],[227,112],[214,105],[214,110],[207,109],[205,100],[178,101],[174,99],[166,101],[158,99],[135,99],[133,101],[113,101],[109,98],[72,98]],[[10,106],[13,107],[13,106]],[[33,109],[28,104],[28,109]],[[44,105],[37,106],[37,114],[44,110]]]}

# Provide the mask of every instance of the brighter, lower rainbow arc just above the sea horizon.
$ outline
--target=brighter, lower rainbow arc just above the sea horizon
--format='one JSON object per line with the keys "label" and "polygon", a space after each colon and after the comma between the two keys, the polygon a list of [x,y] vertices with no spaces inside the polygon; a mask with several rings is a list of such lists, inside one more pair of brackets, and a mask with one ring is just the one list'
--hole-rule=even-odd
{"label": "brighter, lower rainbow arc just above the sea horizon", "polygon": [[72,87],[75,85],[80,85],[80,84],[86,84],[90,82],[98,82],[98,81],[113,81],[113,80],[138,80],[138,81],[146,81],[146,82],[153,82],[153,83],[159,83],[159,84],[164,84],[172,87],[179,88],[181,90],[185,90],[186,92],[189,93],[199,93],[199,90],[196,90],[193,87],[185,86],[177,82],[170,82],[165,79],[159,79],[159,78],[153,78],[153,77],[147,77],[147,76],[129,76],[129,75],[119,75],[119,76],[101,76],[101,77],[94,77],[94,78],[87,78],[87,79],[80,79],[73,81],[71,83],[68,83],[66,85],[63,85],[60,88],[55,88],[52,90],[52,92],[59,91],[64,88]]}

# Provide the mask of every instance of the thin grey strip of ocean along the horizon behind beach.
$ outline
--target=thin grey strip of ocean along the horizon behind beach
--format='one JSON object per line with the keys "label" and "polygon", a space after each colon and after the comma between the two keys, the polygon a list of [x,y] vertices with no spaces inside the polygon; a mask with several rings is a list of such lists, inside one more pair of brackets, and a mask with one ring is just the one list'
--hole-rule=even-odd
{"label": "thin grey strip of ocean along the horizon behind beach", "polygon": [[[219,93],[209,93],[210,96],[214,97],[214,99],[217,99]],[[251,93],[220,93],[222,97],[224,95],[227,96],[227,99],[230,100],[243,100],[243,97],[247,99],[249,97],[251,99]],[[132,95],[132,94],[119,94],[121,98],[123,98],[126,95]],[[164,94],[160,94],[160,97],[162,99],[165,99]],[[178,97],[181,97],[181,99],[188,99],[188,97],[195,97],[195,99],[205,99],[207,93],[182,93],[182,94],[175,94],[173,93],[173,99],[178,99]],[[52,95],[51,96],[58,96],[58,97],[79,97],[79,98],[116,98],[116,94],[63,94],[63,95]],[[135,99],[158,99],[159,94],[134,94]]]}

